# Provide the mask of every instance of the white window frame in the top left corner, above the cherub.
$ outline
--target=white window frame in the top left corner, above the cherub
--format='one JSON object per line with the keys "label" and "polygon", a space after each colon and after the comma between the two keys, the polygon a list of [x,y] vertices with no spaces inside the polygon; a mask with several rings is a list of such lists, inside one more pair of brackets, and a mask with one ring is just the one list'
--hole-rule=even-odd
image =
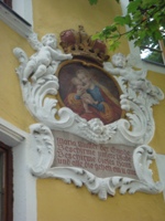
{"label": "white window frame in the top left corner, above the cherub", "polygon": [[33,32],[32,0],[12,0],[13,9],[0,1],[0,19],[20,35]]}

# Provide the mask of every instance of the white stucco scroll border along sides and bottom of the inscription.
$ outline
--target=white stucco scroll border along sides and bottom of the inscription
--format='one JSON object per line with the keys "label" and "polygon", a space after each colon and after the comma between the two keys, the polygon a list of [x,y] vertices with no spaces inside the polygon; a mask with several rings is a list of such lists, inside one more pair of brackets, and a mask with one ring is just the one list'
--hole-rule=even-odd
{"label": "white stucco scroll border along sides and bottom of the inscription", "polygon": [[158,193],[163,190],[162,182],[154,182],[152,170],[148,168],[155,158],[155,151],[147,145],[136,147],[133,154],[133,162],[139,179],[125,177],[99,178],[91,172],[76,167],[52,167],[55,158],[54,138],[48,127],[43,124],[31,126],[31,171],[40,178],[58,178],[66,183],[74,182],[76,187],[85,185],[87,189],[102,200],[108,194],[114,196],[116,190],[120,193],[134,193],[136,191],[146,193]]}

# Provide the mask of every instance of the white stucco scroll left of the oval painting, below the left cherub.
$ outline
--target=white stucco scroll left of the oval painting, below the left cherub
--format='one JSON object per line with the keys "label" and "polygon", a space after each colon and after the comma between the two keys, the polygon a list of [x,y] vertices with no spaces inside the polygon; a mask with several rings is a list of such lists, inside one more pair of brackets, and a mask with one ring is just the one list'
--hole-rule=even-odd
{"label": "white stucco scroll left of the oval painting, below the left cherub", "polygon": [[[36,51],[36,54],[33,56],[37,59],[37,52],[40,52],[40,49],[43,46],[41,42],[37,41],[36,34],[33,34],[29,41],[32,45],[32,48]],[[55,40],[56,41],[56,40]],[[45,49],[46,51],[46,49]],[[53,128],[55,125],[59,128],[68,127],[74,122],[74,113],[64,107],[57,110],[57,99],[56,98],[48,98],[46,95],[56,95],[58,91],[58,78],[54,75],[55,71],[58,67],[58,64],[61,63],[61,56],[64,55],[63,60],[70,59],[72,55],[65,55],[62,54],[59,50],[56,50],[57,53],[59,53],[59,60],[52,60],[50,65],[46,67],[46,72],[41,77],[35,77],[35,82],[29,82],[24,81],[24,70],[28,66],[28,62],[30,61],[28,59],[26,53],[22,49],[14,49],[14,54],[19,59],[21,65],[19,69],[16,69],[16,73],[20,78],[20,85],[22,88],[22,95],[23,101],[29,108],[30,113],[37,118],[40,122],[43,122],[51,128]],[[33,59],[32,57],[32,59]],[[42,57],[41,57],[42,59]],[[44,57],[45,59],[45,57]],[[40,63],[40,62],[38,62]],[[41,63],[42,64],[42,63]],[[61,119],[56,119],[55,115],[58,114]],[[72,117],[73,116],[73,117]]]}

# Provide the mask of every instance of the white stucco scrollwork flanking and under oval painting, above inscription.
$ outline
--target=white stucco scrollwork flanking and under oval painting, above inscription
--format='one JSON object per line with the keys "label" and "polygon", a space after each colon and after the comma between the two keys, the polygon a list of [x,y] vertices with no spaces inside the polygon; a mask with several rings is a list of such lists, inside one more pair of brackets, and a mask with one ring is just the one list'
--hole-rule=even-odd
{"label": "white stucco scrollwork flanking and under oval painting, above inscription", "polygon": [[[31,76],[31,81],[24,81],[29,62],[33,57],[36,60],[45,59],[44,55],[40,54],[40,49],[43,44],[38,42],[36,34],[33,34],[29,42],[37,52],[29,60],[22,49],[14,49],[14,54],[21,63],[16,69],[16,73],[20,78],[23,101],[31,114],[38,122],[44,123],[51,129],[65,129],[98,144],[121,143],[140,145],[147,144],[152,139],[155,130],[152,106],[158,104],[164,98],[164,94],[145,78],[146,72],[143,70],[135,71],[131,66],[128,66],[125,57],[120,53],[116,56],[123,60],[122,64],[120,64],[118,59],[117,62],[113,62],[114,64],[110,62],[103,63],[103,69],[109,74],[114,75],[122,90],[123,94],[120,97],[120,103],[121,108],[127,112],[127,118],[119,119],[109,125],[101,124],[99,119],[95,120],[95,127],[98,126],[102,130],[99,135],[98,131],[94,131],[94,120],[87,122],[67,107],[58,109],[57,98],[46,96],[57,95],[58,93],[58,78],[54,73],[61,63],[61,59],[51,57],[52,62],[48,63],[50,65],[46,66],[43,75],[36,76],[36,71]],[[57,50],[57,53],[62,54],[59,50]],[[66,55],[66,60],[70,59],[69,54]],[[35,82],[33,81],[34,78]],[[58,116],[58,119],[55,115]]]}

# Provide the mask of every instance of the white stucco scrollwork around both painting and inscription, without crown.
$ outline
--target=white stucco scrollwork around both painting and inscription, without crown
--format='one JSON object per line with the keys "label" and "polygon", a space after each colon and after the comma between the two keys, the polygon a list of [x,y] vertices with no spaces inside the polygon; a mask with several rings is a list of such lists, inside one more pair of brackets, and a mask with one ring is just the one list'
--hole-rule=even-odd
{"label": "white stucco scrollwork around both painting and inscription, without crown", "polygon": [[[47,34],[50,36],[52,34]],[[41,59],[40,50],[46,50],[37,40],[36,34],[29,38],[29,42],[36,51],[33,57]],[[156,157],[155,151],[147,145],[153,138],[155,123],[152,106],[164,98],[163,92],[146,80],[146,71],[135,71],[132,66],[116,67],[111,62],[103,63],[103,70],[113,75],[122,94],[121,108],[125,110],[125,118],[108,125],[98,119],[86,120],[68,107],[57,108],[56,97],[59,88],[58,77],[55,75],[63,60],[70,55],[58,54],[40,77],[35,72],[29,80],[24,80],[24,70],[29,65],[29,57],[22,49],[14,49],[14,55],[20,61],[16,73],[20,80],[23,101],[30,113],[41,123],[31,125],[31,171],[41,178],[59,178],[78,187],[86,185],[88,190],[99,198],[107,199],[108,194],[116,194],[119,188],[121,193],[143,191],[157,193],[163,190],[161,182],[154,182],[150,164]],[[33,59],[32,57],[32,59]],[[59,59],[61,57],[61,59]],[[42,57],[44,60],[44,55]],[[35,81],[33,81],[35,78]],[[53,95],[54,97],[48,97]],[[55,117],[58,115],[58,118]],[[98,129],[99,128],[99,129]],[[81,168],[52,168],[55,157],[53,130],[65,130],[96,144],[122,144],[136,147],[133,154],[138,180],[123,177],[98,178]],[[37,159],[37,160],[36,160]]]}

